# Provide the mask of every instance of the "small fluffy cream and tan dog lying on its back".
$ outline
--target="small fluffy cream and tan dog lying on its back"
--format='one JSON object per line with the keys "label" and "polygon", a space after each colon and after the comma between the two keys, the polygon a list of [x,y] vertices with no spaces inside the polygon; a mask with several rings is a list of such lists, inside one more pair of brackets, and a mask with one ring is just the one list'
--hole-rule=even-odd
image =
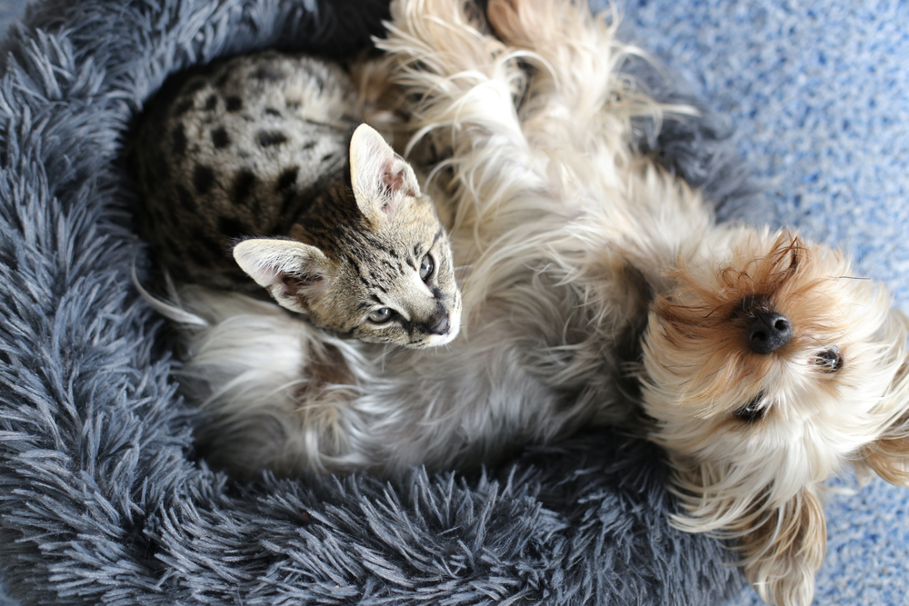
{"label": "small fluffy cream and tan dog lying on its back", "polygon": [[239,472],[463,468],[636,426],[669,453],[675,523],[735,539],[765,601],[806,606],[821,482],[852,464],[909,484],[909,322],[884,288],[796,233],[714,224],[634,157],[632,117],[684,108],[620,75],[635,49],[583,3],[490,0],[487,24],[463,0],[403,0],[379,45],[469,265],[464,328],[386,354],[187,293],[206,326],[184,378],[215,455]]}

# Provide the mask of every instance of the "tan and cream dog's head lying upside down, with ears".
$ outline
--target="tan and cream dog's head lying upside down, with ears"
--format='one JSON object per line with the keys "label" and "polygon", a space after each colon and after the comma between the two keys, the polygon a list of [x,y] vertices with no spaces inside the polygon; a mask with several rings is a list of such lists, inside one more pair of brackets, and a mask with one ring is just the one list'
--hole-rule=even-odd
{"label": "tan and cream dog's head lying upside down, with ears", "polygon": [[[644,338],[644,408],[686,512],[739,542],[765,601],[806,606],[820,482],[852,463],[909,484],[907,322],[844,256],[739,228],[679,263]],[[717,253],[724,250],[725,253]]]}

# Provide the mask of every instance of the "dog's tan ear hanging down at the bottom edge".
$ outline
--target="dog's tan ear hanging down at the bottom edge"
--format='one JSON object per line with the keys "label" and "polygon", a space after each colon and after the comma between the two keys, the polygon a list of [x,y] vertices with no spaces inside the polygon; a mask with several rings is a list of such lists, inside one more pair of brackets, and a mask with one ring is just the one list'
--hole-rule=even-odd
{"label": "dog's tan ear hanging down at the bottom edge", "polygon": [[824,507],[808,486],[784,505],[762,509],[744,517],[736,532],[745,577],[766,602],[808,606],[826,551]]}

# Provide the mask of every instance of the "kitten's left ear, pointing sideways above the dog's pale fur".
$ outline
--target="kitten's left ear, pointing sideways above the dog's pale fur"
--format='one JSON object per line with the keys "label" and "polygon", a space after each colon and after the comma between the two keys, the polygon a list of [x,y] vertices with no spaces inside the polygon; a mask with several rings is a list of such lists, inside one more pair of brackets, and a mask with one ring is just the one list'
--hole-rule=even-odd
{"label": "kitten's left ear, pointing sideways above the dog's pale fur", "polygon": [[234,259],[279,305],[292,312],[308,313],[325,295],[331,263],[315,246],[250,238],[235,244]]}

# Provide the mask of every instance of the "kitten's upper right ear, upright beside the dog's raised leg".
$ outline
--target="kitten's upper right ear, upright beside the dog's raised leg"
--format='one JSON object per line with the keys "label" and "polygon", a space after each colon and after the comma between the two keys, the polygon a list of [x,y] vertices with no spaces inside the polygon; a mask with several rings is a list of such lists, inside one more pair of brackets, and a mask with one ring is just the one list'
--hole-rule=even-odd
{"label": "kitten's upper right ear, upright beside the dog's raised leg", "polygon": [[350,139],[350,180],[360,212],[371,221],[394,216],[405,196],[420,195],[414,169],[368,124]]}

